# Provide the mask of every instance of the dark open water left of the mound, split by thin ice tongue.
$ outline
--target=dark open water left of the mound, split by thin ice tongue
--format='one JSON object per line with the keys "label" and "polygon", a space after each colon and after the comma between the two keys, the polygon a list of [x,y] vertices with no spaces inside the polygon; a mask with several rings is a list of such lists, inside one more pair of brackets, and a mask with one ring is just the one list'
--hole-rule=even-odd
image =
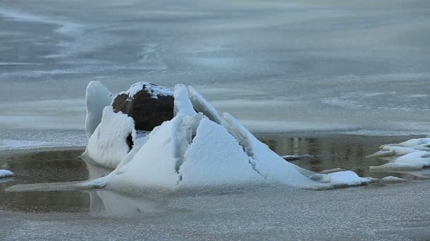
{"label": "dark open water left of the mound, split by thin ice tongue", "polygon": [[78,191],[5,192],[11,185],[58,183],[88,179],[82,150],[1,153],[0,165],[13,170],[13,180],[0,183],[0,209],[30,212],[82,212],[88,210],[87,193]]}

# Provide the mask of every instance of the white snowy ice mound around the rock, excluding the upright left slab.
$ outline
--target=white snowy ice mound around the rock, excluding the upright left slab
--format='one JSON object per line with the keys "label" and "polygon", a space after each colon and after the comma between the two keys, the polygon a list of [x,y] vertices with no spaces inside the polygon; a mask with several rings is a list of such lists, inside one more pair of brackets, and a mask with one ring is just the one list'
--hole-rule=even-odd
{"label": "white snowy ice mound around the rock, excluding the upright left slab", "polygon": [[371,181],[351,171],[317,174],[285,161],[233,116],[221,117],[192,87],[176,85],[173,97],[174,118],[144,137],[136,135],[132,118],[106,106],[83,156],[116,168],[82,185],[122,191],[267,183],[327,189]]}

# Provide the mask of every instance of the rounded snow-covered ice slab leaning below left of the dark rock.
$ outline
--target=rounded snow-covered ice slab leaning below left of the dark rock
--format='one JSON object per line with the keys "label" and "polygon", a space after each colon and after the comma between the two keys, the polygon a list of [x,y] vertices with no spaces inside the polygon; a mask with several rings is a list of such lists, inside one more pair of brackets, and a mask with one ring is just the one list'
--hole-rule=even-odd
{"label": "rounded snow-covered ice slab leaning below left of the dark rock", "polygon": [[88,140],[83,158],[101,166],[116,168],[130,151],[126,142],[129,135],[136,140],[133,118],[122,112],[115,113],[112,106],[106,106],[100,125]]}

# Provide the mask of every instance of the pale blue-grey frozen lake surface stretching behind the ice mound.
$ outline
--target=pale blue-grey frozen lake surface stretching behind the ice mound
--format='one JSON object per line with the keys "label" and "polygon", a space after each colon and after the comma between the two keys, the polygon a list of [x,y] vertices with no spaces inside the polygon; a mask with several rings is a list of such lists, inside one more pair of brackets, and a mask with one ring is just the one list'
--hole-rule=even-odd
{"label": "pale blue-grey frozen lake surface stretching behind the ice mound", "polygon": [[0,1],[0,149],[84,145],[89,80],[193,85],[254,132],[429,133],[429,27],[426,0]]}

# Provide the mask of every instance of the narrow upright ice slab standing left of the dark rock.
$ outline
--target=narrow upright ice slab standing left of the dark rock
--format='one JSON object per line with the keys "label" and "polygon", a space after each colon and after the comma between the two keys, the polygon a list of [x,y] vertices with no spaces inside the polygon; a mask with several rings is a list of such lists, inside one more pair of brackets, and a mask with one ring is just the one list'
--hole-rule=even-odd
{"label": "narrow upright ice slab standing left of the dark rock", "polygon": [[86,87],[86,136],[90,139],[102,120],[103,108],[112,102],[112,94],[101,82],[91,81]]}

